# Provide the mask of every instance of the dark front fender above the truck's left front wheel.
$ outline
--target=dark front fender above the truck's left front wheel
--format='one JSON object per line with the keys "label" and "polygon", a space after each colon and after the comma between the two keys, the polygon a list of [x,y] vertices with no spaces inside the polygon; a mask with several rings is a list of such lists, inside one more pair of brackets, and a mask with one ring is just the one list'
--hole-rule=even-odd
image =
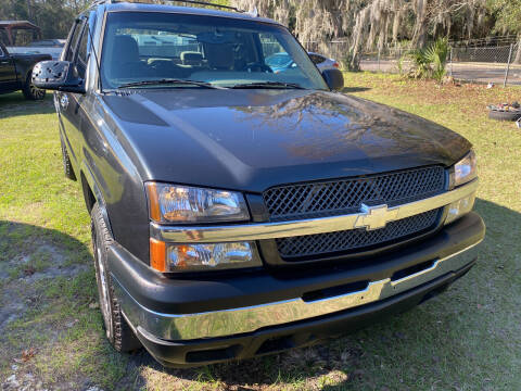
{"label": "dark front fender above the truck's left front wheel", "polygon": [[[105,204],[114,239],[139,260],[149,257],[149,216],[142,167],[119,142],[118,125],[100,97],[88,96],[78,143],[81,174],[90,172]],[[85,174],[84,174],[85,175]]]}

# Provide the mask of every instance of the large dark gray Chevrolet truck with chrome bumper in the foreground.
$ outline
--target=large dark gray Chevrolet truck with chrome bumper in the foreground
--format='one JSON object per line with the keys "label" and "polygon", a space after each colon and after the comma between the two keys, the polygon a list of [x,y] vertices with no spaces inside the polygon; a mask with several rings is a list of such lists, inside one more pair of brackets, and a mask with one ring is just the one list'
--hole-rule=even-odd
{"label": "large dark gray Chevrolet truck with chrome bumper in the foreground", "polygon": [[[274,53],[295,65],[275,73]],[[475,263],[469,141],[339,92],[271,20],[99,1],[33,77],[55,91],[120,352],[194,366],[309,345]]]}

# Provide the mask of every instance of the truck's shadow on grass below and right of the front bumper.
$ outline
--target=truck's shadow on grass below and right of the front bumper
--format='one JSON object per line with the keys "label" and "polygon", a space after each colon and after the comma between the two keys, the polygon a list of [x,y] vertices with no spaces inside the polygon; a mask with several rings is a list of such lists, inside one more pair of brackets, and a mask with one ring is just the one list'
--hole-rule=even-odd
{"label": "truck's shadow on grass below and right of the front bumper", "polygon": [[[506,249],[518,243],[517,236],[521,226],[521,214],[507,207],[478,200],[475,209],[485,219],[490,232],[485,241],[474,250],[479,251],[481,262],[447,293],[404,314],[383,318],[381,323],[345,338],[272,356],[194,369],[167,369],[141,352],[132,358],[138,367],[141,366],[141,374],[143,370],[147,374],[140,377],[140,384],[166,384],[168,379],[180,378],[187,381],[224,383],[226,389],[242,389],[241,387],[252,384],[256,384],[251,388],[255,390],[272,384],[278,384],[281,389],[405,389],[405,384],[418,384],[415,378],[418,377],[432,380],[424,384],[425,388],[430,389],[435,381],[441,381],[439,387],[444,389],[452,387],[444,381],[457,381],[461,375],[459,371],[463,371],[463,379],[472,378],[472,367],[482,365],[480,354],[490,354],[490,358],[493,358],[493,346],[496,343],[494,337],[490,336],[488,315],[475,312],[476,304],[473,300],[487,294],[483,281],[491,281],[492,274],[497,272],[491,263],[498,256],[494,249],[498,245]],[[507,286],[510,283],[507,281],[508,275],[499,275],[498,278],[505,278]],[[450,315],[454,313],[458,317]],[[505,311],[504,315],[508,316],[508,313]],[[441,318],[444,319],[443,329],[440,328]],[[476,335],[485,339],[480,341],[485,346],[483,352],[475,352],[472,346]],[[486,348],[488,342],[491,344]],[[450,368],[455,368],[454,373]],[[411,378],[407,378],[408,373]],[[392,379],[386,379],[385,376],[391,376]],[[446,379],[440,380],[444,376]],[[325,377],[329,380],[323,380]],[[470,388],[482,386],[471,383]]]}

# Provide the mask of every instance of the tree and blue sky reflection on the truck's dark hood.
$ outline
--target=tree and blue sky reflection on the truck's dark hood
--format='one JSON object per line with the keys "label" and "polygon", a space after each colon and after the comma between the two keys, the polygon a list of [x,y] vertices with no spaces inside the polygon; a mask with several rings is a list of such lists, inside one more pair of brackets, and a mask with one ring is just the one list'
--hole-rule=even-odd
{"label": "tree and blue sky reflection on the truck's dark hood", "polygon": [[249,122],[258,131],[291,134],[291,142],[281,146],[309,160],[341,154],[353,143],[366,155],[374,156],[399,154],[404,146],[411,143],[418,153],[427,153],[459,142],[439,125],[351,96],[317,92],[274,105],[233,109],[244,114],[238,116],[239,122]]}

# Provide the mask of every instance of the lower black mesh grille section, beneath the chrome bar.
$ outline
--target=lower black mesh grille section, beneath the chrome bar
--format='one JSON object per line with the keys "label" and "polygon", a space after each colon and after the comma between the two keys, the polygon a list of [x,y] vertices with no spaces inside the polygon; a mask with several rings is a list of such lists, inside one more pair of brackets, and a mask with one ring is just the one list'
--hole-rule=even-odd
{"label": "lower black mesh grille section, beneath the chrome bar", "polygon": [[307,235],[277,239],[280,256],[292,261],[295,257],[361,251],[376,244],[383,245],[396,239],[406,239],[432,229],[439,219],[440,210],[429,211],[412,217],[391,222],[385,228],[368,231],[353,229],[330,234]]}

